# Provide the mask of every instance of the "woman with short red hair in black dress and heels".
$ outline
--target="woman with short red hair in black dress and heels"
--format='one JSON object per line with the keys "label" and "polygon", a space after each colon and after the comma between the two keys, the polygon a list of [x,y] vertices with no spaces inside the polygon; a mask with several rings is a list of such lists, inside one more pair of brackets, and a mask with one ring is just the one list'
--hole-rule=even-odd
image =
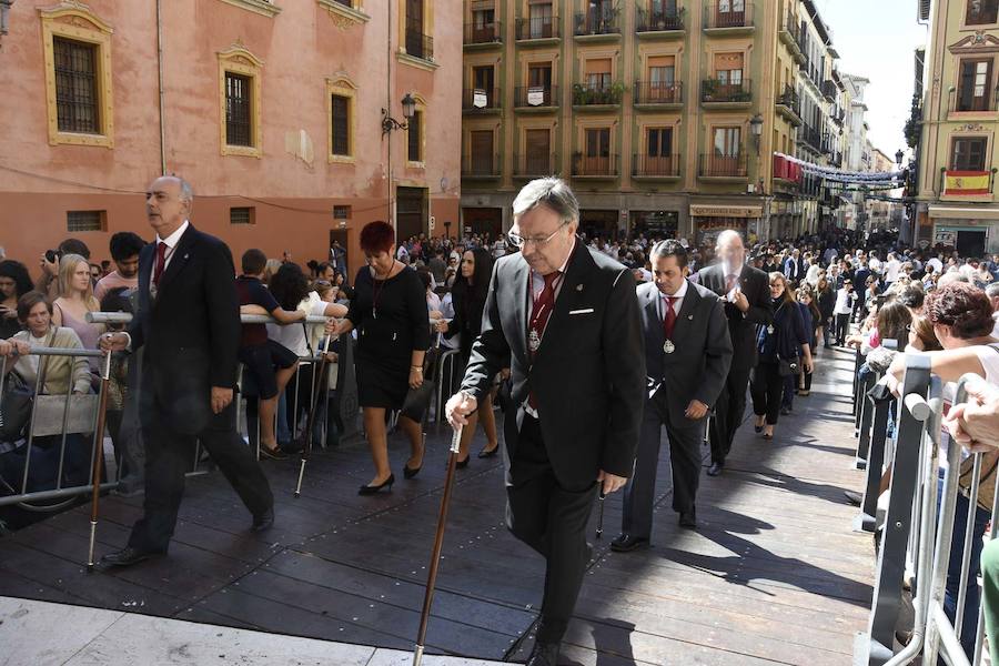
{"label": "woman with short red hair in black dress and heels", "polygon": [[[395,260],[392,226],[381,221],[366,224],[361,250],[367,265],[357,272],[350,311],[334,335],[357,331],[357,397],[375,465],[374,478],[359,494],[372,495],[395,483],[385,414],[401,410],[408,390],[423,384],[423,357],[431,340],[423,284],[416,271]],[[405,415],[400,415],[398,425],[410,437],[405,477],[412,478],[423,466],[423,428]]]}

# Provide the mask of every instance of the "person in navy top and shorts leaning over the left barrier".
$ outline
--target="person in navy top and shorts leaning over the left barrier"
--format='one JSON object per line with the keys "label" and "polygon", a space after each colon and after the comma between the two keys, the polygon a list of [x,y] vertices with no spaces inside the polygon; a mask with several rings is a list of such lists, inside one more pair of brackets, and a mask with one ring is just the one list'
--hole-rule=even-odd
{"label": "person in navy top and shorts leaning over the left barrier", "polygon": [[[240,305],[262,307],[282,324],[304,321],[304,312],[281,307],[273,294],[261,282],[266,263],[268,256],[260,250],[248,250],[243,254],[243,274],[236,279]],[[286,346],[270,340],[264,324],[243,324],[239,359],[258,391],[260,452],[265,457],[283,460],[286,456],[278,447],[274,415],[278,410],[278,395],[294,374],[299,357]],[[250,404],[248,403],[249,411]]]}

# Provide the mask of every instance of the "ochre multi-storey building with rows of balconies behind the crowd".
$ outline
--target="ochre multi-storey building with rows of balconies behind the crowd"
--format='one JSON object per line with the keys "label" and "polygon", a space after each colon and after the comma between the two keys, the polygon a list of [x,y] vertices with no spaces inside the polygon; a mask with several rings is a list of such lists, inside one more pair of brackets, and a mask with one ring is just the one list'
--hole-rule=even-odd
{"label": "ochre multi-storey building with rows of balconies behind the crowd", "polygon": [[464,22],[466,230],[508,229],[519,186],[548,174],[605,238],[831,220],[829,191],[771,157],[842,159],[837,56],[810,0],[465,0]]}

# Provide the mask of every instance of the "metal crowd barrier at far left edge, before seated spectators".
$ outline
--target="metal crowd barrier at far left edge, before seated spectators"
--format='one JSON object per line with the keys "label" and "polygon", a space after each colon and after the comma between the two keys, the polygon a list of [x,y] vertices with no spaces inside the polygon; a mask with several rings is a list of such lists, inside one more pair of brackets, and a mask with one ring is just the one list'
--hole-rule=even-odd
{"label": "metal crowd barrier at far left edge, before seated spectators", "polygon": [[[38,346],[31,349],[30,355],[39,357],[39,365],[43,365],[43,359],[53,356],[83,357],[88,360],[104,359],[104,354],[95,350]],[[6,356],[0,357],[0,395],[3,395],[6,392],[9,372],[13,372],[13,370],[9,367],[8,359]],[[72,371],[70,371],[69,391],[65,394],[50,395],[43,393],[42,374],[42,372],[39,372],[36,375],[34,386],[31,387],[33,396],[27,437],[17,442],[0,443],[0,446],[3,447],[0,455],[10,456],[0,464],[0,470],[4,470],[9,465],[18,466],[14,458],[23,455],[23,467],[18,472],[19,480],[0,476],[0,493],[9,493],[0,496],[0,507],[17,505],[28,511],[54,512],[68,506],[78,497],[93,492],[90,472],[93,470],[95,456],[103,455],[103,433],[95,432],[95,424],[100,422],[98,410],[100,408],[101,395],[103,394],[103,384],[101,384],[99,393],[74,394],[72,391],[73,375]],[[77,442],[77,437],[70,440],[71,435],[90,436],[91,438],[80,441],[81,444],[85,444],[85,448],[90,452],[88,465],[85,467],[80,465],[80,470],[78,470],[81,473],[81,483],[69,484],[69,480],[65,478],[65,473],[68,472],[67,446]],[[59,437],[59,455],[56,465],[54,487],[29,490],[29,482],[32,478],[33,454],[40,452],[39,457],[41,457],[46,452],[51,452],[51,446],[39,446],[37,441],[41,437],[48,440],[56,436]],[[44,443],[51,444],[51,441]],[[80,446],[80,448],[83,450],[84,446]],[[39,465],[41,463],[42,461],[39,460],[33,464]],[[108,490],[115,485],[117,481],[109,481],[100,484],[100,487]],[[50,501],[56,502],[50,503]]]}

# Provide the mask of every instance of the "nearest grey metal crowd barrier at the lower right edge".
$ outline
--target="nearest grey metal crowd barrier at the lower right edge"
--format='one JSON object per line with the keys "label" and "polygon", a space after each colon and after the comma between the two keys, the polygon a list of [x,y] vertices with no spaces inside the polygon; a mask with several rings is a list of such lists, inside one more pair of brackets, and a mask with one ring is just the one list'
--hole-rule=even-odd
{"label": "nearest grey metal crowd barrier at the lower right edge", "polygon": [[[970,376],[970,375],[969,375]],[[958,385],[956,404],[963,402],[963,377]],[[929,372],[929,356],[906,355],[906,373],[901,397],[897,400],[897,428],[894,453],[888,453],[891,471],[890,498],[884,519],[881,546],[878,553],[874,597],[868,632],[858,636],[855,665],[901,666],[919,663],[937,666],[941,659],[951,666],[981,664],[983,614],[963,617],[971,571],[973,526],[982,455],[973,456],[971,488],[968,493],[968,522],[961,544],[961,577],[957,594],[955,618],[944,609],[947,575],[957,507],[958,477],[961,470],[961,446],[949,441],[944,490],[938,492],[941,448],[941,420],[945,402],[938,377]],[[875,406],[871,457],[868,483],[860,518],[872,525],[881,475],[879,452],[885,451],[889,403]],[[949,440],[949,438],[948,438]],[[997,485],[999,490],[999,485]],[[938,514],[939,502],[939,514]],[[999,508],[999,492],[992,497],[992,515]],[[995,529],[989,538],[995,536]],[[911,637],[895,652],[896,630],[904,605],[906,582],[911,583],[915,614]],[[977,585],[976,581],[970,582]],[[968,659],[959,636],[965,623],[977,623],[972,659]],[[907,627],[904,627],[907,629]]]}

